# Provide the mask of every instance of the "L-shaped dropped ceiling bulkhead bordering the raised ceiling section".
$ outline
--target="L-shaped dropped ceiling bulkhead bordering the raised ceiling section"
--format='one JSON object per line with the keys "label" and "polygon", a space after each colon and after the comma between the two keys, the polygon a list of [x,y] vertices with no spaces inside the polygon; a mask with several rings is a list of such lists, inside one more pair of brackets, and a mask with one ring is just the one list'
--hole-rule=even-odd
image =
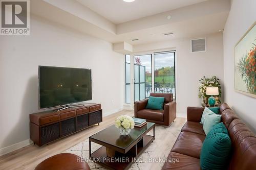
{"label": "L-shaped dropped ceiling bulkhead bordering the raised ceiling section", "polygon": [[[127,42],[132,45],[139,45],[185,37],[202,38],[201,36],[217,33],[219,30],[224,29],[230,10],[230,0],[208,0],[144,18],[114,24],[104,18],[105,16],[97,14],[88,7],[81,5],[78,1],[92,2],[91,0],[37,0],[31,1],[30,12],[113,44]],[[98,3],[99,1],[122,2],[122,0],[93,1]],[[145,1],[166,2],[167,4],[168,2],[176,2],[174,3],[176,7],[177,5],[184,5],[184,2],[199,2],[196,0],[168,0],[168,2],[165,0],[136,0],[135,2]],[[112,3],[111,5],[107,4],[105,3],[104,5],[106,7],[113,5]],[[159,6],[162,7],[162,4],[159,4]],[[157,9],[160,9],[159,6],[156,5]],[[150,6],[146,7],[150,8]],[[115,8],[117,10],[120,9],[118,7]],[[163,7],[161,9],[164,10]],[[126,17],[119,15],[117,10],[113,10],[117,17]],[[109,12],[112,13],[113,11]],[[136,11],[140,10],[136,7]],[[137,15],[141,16],[141,13],[139,12]],[[168,15],[172,16],[172,18],[167,19]],[[174,34],[163,35],[163,33],[168,32],[173,32]],[[139,40],[131,41],[136,38]]]}

